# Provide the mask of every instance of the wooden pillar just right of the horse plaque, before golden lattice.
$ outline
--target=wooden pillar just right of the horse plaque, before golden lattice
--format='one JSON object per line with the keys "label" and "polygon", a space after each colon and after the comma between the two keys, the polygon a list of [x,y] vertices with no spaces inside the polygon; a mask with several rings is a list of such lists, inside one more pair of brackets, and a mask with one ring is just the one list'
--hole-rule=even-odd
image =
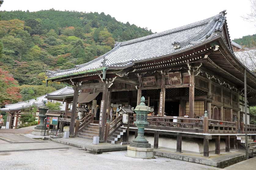
{"label": "wooden pillar just right of the horse plaque, before golden lattice", "polygon": [[[195,108],[195,75],[194,71],[191,71],[189,76],[189,118],[194,118],[194,108]],[[209,114],[209,113],[208,113]]]}

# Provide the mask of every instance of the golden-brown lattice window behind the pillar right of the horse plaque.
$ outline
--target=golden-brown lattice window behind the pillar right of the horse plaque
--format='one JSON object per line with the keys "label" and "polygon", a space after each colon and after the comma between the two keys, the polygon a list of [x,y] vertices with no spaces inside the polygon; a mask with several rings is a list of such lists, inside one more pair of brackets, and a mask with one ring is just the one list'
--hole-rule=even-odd
{"label": "golden-brown lattice window behind the pillar right of the horse plaque", "polygon": [[[204,100],[198,100],[194,102],[194,118],[204,115]],[[186,102],[185,115],[189,116],[189,101]]]}

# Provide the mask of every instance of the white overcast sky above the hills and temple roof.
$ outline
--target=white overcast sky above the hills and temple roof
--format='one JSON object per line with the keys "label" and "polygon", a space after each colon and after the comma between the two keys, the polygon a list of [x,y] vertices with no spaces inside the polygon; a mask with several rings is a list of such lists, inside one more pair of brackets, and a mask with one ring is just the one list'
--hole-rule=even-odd
{"label": "white overcast sky above the hills and temple roof", "polygon": [[249,0],[4,0],[0,10],[39,11],[51,8],[104,12],[123,23],[129,21],[130,24],[148,27],[152,32],[187,25],[217,15],[226,9],[232,40],[256,32],[256,23],[249,23],[241,18],[251,10]]}

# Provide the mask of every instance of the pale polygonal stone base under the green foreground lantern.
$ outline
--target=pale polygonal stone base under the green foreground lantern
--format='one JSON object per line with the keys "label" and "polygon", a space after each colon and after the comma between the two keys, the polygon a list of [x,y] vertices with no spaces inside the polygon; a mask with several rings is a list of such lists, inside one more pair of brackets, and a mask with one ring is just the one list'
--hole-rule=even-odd
{"label": "pale polygonal stone base under the green foreground lantern", "polygon": [[138,148],[127,146],[127,154],[125,156],[132,158],[143,158],[143,159],[152,159],[153,148]]}

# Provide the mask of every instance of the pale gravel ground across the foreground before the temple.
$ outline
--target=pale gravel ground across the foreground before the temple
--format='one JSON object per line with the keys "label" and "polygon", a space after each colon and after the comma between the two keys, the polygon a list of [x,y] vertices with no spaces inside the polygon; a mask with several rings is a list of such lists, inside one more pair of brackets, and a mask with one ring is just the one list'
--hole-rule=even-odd
{"label": "pale gravel ground across the foreground before the temple", "polygon": [[17,151],[0,153],[0,170],[80,170],[80,169],[168,169],[217,170],[206,165],[160,158],[138,159],[125,156],[126,151],[90,154],[76,147],[69,149]]}

